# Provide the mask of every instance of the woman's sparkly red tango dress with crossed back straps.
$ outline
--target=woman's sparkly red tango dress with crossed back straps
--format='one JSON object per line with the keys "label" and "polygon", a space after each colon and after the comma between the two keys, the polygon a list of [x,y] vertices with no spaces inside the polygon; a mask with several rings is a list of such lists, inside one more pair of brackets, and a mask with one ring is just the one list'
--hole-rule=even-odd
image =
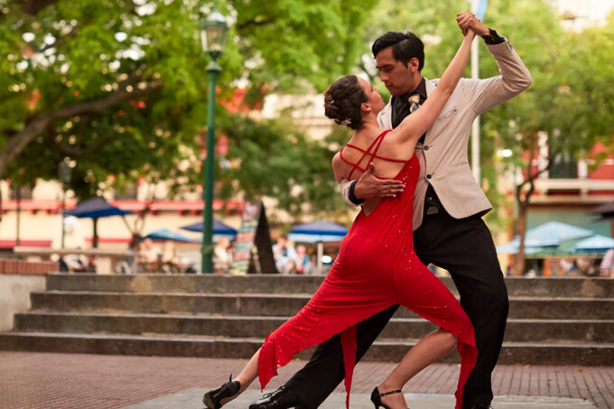
{"label": "woman's sparkly red tango dress with crossed back straps", "polygon": [[[356,324],[399,304],[459,339],[461,366],[456,408],[460,409],[462,386],[478,356],[473,326],[452,293],[414,253],[412,210],[420,164],[415,155],[408,161],[377,156],[386,134],[387,131],[377,136],[367,151],[349,146],[361,150],[363,157],[370,155],[371,160],[377,157],[404,162],[394,179],[405,182],[405,191],[395,199],[380,200],[368,216],[364,210],[358,214],[341,242],[339,256],[310,302],[265,339],[258,358],[260,385],[264,389],[277,375],[277,368],[290,362],[296,352],[341,333],[349,407]],[[358,164],[350,164],[354,166],[352,172],[358,168]]]}

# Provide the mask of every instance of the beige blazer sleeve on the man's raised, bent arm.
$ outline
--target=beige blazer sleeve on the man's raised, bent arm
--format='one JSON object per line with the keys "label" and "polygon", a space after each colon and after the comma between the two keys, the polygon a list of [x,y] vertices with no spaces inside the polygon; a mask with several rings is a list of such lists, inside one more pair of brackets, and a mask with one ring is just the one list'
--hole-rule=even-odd
{"label": "beige blazer sleeve on the man's raised, bent arm", "polygon": [[463,91],[472,102],[476,115],[516,97],[531,85],[531,73],[507,40],[487,44],[497,61],[501,75],[489,79],[465,79]]}

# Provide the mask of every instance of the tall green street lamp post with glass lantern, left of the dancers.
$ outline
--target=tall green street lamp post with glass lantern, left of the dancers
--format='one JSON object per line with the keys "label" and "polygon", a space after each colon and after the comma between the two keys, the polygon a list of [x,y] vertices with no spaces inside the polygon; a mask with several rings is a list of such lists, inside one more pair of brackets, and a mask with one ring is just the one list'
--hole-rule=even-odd
{"label": "tall green street lamp post with glass lantern, left of the dancers", "polygon": [[207,162],[205,164],[202,199],[205,209],[202,211],[202,262],[200,273],[213,272],[213,180],[215,162],[215,83],[222,70],[218,59],[224,52],[228,25],[224,16],[215,10],[209,14],[200,27],[202,50],[209,54],[211,60],[207,65],[209,73],[209,99],[207,101]]}

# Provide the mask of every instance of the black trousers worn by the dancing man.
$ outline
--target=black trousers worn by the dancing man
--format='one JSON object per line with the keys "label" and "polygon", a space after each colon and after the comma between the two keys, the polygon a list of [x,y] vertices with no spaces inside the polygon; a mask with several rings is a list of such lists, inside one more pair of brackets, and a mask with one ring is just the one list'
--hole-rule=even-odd
{"label": "black trousers worn by the dancing man", "polygon": [[[497,364],[506,329],[507,289],[497,251],[486,224],[479,216],[451,218],[445,211],[424,215],[414,232],[414,249],[424,265],[433,263],[448,270],[460,293],[460,304],[473,323],[478,362],[470,374],[463,409],[490,404],[490,378]],[[357,362],[367,352],[398,305],[359,322]],[[317,408],[344,377],[340,336],[321,343],[309,363],[286,386],[308,409]],[[383,379],[374,379],[374,387]]]}

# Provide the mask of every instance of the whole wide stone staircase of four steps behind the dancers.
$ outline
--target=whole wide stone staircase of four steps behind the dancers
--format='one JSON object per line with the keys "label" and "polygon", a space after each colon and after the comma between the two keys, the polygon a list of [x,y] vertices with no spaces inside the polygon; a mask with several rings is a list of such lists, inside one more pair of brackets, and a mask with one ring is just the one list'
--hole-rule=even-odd
{"label": "whole wide stone staircase of four steps behind the dancers", "polygon": [[[0,349],[248,358],[322,278],[49,274],[32,310],[0,334]],[[450,278],[442,281],[455,292]],[[614,280],[507,278],[507,288],[501,364],[614,366]],[[434,328],[400,309],[365,359],[398,361]],[[453,351],[443,361],[460,358]]]}

